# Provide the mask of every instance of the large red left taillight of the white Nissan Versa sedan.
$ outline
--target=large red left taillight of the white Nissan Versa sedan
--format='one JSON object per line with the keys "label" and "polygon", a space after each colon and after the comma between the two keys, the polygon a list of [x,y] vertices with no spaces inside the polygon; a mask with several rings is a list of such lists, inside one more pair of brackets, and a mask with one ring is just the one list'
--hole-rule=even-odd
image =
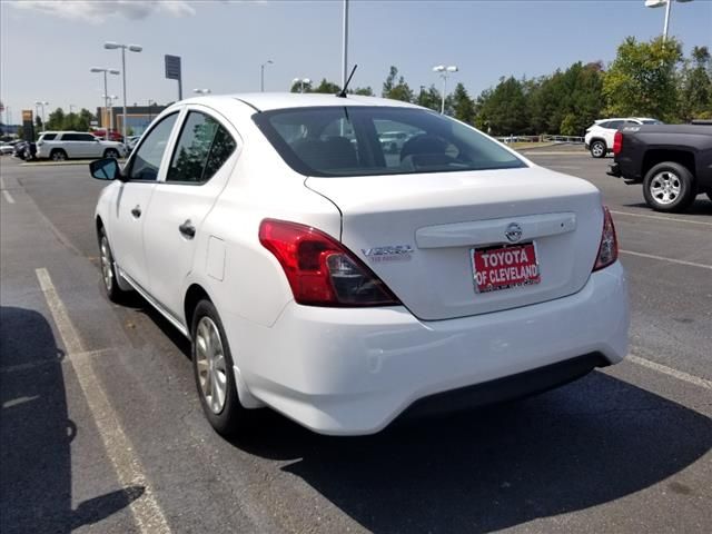
{"label": "large red left taillight of the white Nissan Versa sedan", "polygon": [[287,275],[294,299],[307,306],[395,306],[400,301],[340,243],[309,226],[265,219],[259,243]]}

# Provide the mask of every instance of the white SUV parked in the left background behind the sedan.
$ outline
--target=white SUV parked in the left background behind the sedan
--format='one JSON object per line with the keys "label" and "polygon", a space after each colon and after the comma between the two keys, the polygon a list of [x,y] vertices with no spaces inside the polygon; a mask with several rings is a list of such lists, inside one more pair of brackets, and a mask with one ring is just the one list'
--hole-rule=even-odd
{"label": "white SUV parked in the left background behind the sedan", "polygon": [[44,131],[37,140],[37,159],[123,158],[126,147],[102,141],[86,131]]}

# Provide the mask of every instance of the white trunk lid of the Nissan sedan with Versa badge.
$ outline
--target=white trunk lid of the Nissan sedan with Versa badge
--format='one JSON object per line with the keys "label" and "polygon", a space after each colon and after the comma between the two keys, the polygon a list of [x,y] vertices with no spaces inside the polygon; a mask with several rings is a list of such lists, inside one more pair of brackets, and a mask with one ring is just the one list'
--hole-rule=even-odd
{"label": "white trunk lid of the Nissan sedan with Versa badge", "polygon": [[[338,206],[342,243],[424,320],[498,312],[576,293],[591,275],[601,241],[599,190],[536,166],[309,177],[305,184]],[[521,230],[515,244],[505,237],[512,224]],[[537,284],[477,291],[473,249],[528,243],[538,263]]]}

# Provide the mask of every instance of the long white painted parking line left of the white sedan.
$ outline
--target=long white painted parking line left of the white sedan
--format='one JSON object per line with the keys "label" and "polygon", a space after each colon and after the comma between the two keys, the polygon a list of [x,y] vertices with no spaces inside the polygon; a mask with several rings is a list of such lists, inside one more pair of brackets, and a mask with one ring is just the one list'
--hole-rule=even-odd
{"label": "long white painted parking line left of the white sedan", "polygon": [[77,357],[87,353],[69,318],[65,303],[59,298],[48,270],[40,268],[34,271],[65,345],[67,359],[71,363],[77,375],[107,456],[113,464],[119,482],[125,486],[142,486],[145,488],[144,494],[129,505],[139,531],[147,534],[169,533],[170,528],[166,516],[154,496],[140,461],[134,454],[134,445],[121,428],[119,418],[91,367],[90,358]]}

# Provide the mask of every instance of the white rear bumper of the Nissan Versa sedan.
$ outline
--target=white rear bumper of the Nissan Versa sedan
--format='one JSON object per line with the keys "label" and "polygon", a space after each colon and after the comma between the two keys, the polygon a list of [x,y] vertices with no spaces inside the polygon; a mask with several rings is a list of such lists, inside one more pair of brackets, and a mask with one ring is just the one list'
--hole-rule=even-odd
{"label": "white rear bumper of the Nissan Versa sedan", "polygon": [[627,285],[616,263],[568,297],[473,317],[422,322],[403,307],[290,303],[269,328],[227,319],[239,383],[254,397],[315,432],[372,434],[445,392],[476,406],[620,362]]}

